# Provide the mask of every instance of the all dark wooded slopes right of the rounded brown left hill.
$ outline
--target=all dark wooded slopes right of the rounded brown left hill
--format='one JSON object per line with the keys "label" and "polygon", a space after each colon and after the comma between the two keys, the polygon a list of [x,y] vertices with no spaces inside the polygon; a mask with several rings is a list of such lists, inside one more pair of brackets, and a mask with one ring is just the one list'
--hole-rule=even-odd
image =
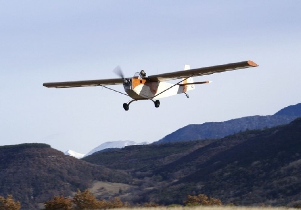
{"label": "all dark wooded slopes right of the rounded brown left hill", "polygon": [[182,203],[187,194],[205,193],[238,205],[293,205],[301,196],[300,143],[301,118],[206,144],[130,146],[85,160],[110,165],[118,157],[112,167],[132,171],[140,186],[123,197],[129,201]]}

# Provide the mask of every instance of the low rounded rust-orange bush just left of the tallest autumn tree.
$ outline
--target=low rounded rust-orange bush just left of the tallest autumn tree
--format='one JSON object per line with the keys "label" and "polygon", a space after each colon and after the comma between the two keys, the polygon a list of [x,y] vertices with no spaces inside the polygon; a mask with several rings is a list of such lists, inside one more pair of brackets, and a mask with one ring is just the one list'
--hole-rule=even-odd
{"label": "low rounded rust-orange bush just left of the tallest autumn tree", "polygon": [[70,210],[72,200],[62,196],[54,196],[51,200],[45,202],[45,210]]}

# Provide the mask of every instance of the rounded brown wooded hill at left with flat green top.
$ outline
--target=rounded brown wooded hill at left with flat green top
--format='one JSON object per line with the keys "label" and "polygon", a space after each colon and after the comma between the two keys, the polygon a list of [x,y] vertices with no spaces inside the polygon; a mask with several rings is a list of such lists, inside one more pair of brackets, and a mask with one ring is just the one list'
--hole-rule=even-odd
{"label": "rounded brown wooded hill at left with flat green top", "polygon": [[94,180],[129,182],[126,173],[65,156],[47,144],[2,146],[0,162],[0,196],[14,195],[25,209],[54,195],[71,196]]}

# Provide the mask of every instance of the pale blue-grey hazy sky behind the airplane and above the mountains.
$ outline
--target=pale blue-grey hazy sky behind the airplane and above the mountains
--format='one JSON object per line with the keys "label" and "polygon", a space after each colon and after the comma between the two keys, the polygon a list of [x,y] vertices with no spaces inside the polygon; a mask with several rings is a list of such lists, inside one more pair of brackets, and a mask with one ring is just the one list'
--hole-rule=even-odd
{"label": "pale blue-grey hazy sky behind the airplane and above the mountains", "polygon": [[[300,103],[300,9],[298,0],[0,0],[0,145],[85,154],[106,141],[154,142],[188,124]],[[259,67],[195,77],[213,82],[159,108],[143,100],[125,111],[130,98],[101,87],[42,86],[116,78],[118,65],[131,77],[244,60]]]}

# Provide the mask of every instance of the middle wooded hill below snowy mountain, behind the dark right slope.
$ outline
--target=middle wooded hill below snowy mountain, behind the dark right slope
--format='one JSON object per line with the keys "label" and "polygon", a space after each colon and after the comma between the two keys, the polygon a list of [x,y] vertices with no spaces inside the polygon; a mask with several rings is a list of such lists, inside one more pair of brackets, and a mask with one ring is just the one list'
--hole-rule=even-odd
{"label": "middle wooded hill below snowy mountain, behind the dark right slope", "polygon": [[[83,160],[112,169],[147,172],[166,165],[214,140],[134,145],[120,150],[94,153]],[[143,176],[143,175],[142,175]]]}

